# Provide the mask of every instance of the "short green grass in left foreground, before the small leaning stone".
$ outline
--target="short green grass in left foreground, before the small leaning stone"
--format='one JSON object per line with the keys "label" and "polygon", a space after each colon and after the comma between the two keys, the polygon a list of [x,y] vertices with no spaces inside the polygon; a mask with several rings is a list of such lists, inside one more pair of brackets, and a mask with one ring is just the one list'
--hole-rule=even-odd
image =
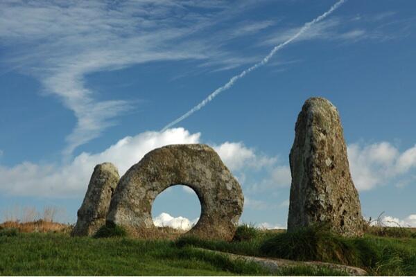
{"label": "short green grass in left foreground, before the small leaning stone", "polygon": [[269,274],[254,263],[168,241],[20,233],[0,237],[0,246],[0,276]]}

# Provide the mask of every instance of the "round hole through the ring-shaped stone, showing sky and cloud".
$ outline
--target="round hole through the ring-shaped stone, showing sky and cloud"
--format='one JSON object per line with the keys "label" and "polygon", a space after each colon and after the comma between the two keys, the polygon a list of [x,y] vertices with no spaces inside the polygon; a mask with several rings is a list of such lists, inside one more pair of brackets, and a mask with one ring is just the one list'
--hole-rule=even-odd
{"label": "round hole through the ring-shaped stone, showing sky and cloud", "polygon": [[181,233],[192,229],[201,215],[201,204],[195,191],[181,184],[170,186],[157,195],[152,205],[153,224],[171,227]]}

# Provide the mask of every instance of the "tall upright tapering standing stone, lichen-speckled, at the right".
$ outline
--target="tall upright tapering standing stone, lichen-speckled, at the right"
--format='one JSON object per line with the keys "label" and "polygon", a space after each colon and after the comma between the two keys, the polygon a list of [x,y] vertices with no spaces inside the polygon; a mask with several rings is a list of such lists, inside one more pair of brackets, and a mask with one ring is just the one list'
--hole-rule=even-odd
{"label": "tall upright tapering standing stone, lichen-speckled, at the right", "polygon": [[306,100],[289,155],[292,173],[288,231],[326,222],[341,235],[362,235],[363,217],[352,182],[343,127],[329,100]]}

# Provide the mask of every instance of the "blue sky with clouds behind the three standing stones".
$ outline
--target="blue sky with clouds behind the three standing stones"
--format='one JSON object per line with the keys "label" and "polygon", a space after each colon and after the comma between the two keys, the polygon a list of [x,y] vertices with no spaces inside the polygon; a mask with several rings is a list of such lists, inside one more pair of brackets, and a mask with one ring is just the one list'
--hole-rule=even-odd
{"label": "blue sky with clouds behind the three standing stones", "polygon": [[[153,148],[207,143],[243,187],[241,220],[285,226],[295,120],[323,96],[340,112],[363,214],[416,225],[414,1],[345,1],[159,132],[335,3],[1,1],[0,211],[58,206],[74,222],[96,163],[123,174]],[[173,188],[153,214],[193,220],[198,208]]]}

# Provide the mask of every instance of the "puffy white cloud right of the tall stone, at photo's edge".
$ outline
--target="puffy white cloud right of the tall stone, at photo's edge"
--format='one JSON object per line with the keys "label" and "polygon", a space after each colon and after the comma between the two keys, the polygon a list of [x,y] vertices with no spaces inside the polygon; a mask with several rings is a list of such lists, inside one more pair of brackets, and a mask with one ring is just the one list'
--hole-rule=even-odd
{"label": "puffy white cloud right of the tall stone, at photo's edge", "polygon": [[[416,167],[416,145],[403,153],[388,142],[349,145],[347,148],[352,179],[358,190],[394,182],[404,186],[408,173]],[[403,179],[405,178],[405,179]]]}

